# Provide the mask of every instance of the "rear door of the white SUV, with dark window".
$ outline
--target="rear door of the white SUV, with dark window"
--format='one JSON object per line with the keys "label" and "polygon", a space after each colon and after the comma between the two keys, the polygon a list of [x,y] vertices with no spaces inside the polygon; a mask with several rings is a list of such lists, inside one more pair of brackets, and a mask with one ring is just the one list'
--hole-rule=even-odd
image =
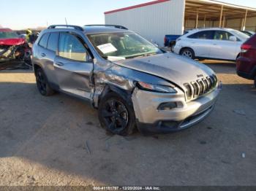
{"label": "rear door of the white SUV, with dark window", "polygon": [[195,57],[207,58],[211,50],[212,31],[200,31],[187,36],[186,44],[195,52]]}

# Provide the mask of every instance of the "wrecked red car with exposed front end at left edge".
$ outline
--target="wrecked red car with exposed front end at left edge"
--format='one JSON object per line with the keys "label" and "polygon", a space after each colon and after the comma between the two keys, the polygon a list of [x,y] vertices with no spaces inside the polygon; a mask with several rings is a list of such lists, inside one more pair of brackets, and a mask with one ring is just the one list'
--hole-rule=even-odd
{"label": "wrecked red car with exposed front end at left edge", "polygon": [[31,48],[25,39],[19,38],[10,28],[0,28],[0,70],[14,63],[31,64],[30,55]]}

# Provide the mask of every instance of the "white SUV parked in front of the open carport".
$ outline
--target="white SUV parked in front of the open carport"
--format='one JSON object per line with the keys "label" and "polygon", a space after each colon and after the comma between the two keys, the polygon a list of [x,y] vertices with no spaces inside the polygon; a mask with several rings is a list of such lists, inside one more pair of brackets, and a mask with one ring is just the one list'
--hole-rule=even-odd
{"label": "white SUV parked in front of the open carport", "polygon": [[177,39],[173,51],[188,58],[236,61],[249,36],[231,28],[202,28]]}

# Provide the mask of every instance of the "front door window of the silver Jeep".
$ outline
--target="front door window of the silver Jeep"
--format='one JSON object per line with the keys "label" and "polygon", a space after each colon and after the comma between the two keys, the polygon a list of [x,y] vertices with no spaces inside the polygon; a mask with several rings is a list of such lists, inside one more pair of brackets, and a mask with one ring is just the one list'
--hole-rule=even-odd
{"label": "front door window of the silver Jeep", "polygon": [[89,61],[89,54],[86,47],[77,36],[61,33],[59,39],[59,56],[75,61]]}

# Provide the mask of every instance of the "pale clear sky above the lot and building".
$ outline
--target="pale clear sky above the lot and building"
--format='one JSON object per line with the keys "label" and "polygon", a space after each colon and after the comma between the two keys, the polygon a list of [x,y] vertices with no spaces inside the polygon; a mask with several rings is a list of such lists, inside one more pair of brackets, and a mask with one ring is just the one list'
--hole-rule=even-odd
{"label": "pale clear sky above the lot and building", "polygon": [[[3,1],[3,2],[1,2]],[[67,23],[83,26],[104,24],[104,12],[152,0],[0,0],[0,26],[12,29],[45,27]],[[219,0],[255,7],[255,0]]]}

